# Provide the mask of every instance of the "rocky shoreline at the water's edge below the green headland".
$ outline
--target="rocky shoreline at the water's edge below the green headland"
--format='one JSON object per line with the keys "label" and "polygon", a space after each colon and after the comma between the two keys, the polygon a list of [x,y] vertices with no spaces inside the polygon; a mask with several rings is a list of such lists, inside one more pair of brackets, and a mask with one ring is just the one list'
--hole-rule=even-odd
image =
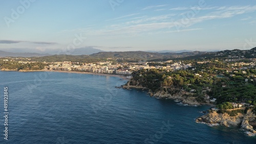
{"label": "rocky shoreline at the water's edge below the green headland", "polygon": [[[141,85],[130,85],[129,82],[126,85],[123,85],[122,87],[125,89],[130,89],[130,88],[148,89],[146,87],[142,87]],[[206,103],[202,103],[202,102],[197,102],[195,100],[195,97],[184,97],[184,93],[182,91],[174,94],[170,94],[163,90],[162,91],[158,90],[156,92],[152,92],[151,90],[149,90],[148,93],[150,93],[151,97],[154,97],[156,99],[172,99],[172,100],[176,100],[177,103],[180,102],[179,104],[185,105],[185,106],[207,105],[210,107],[215,107],[215,105],[211,104],[209,101]],[[226,127],[240,126],[240,128],[242,128],[245,131],[247,136],[256,136],[256,130],[253,129],[253,126],[251,126],[249,122],[249,119],[251,117],[255,117],[256,119],[256,115],[253,114],[251,110],[248,110],[246,114],[240,113],[237,116],[230,116],[227,113],[218,114],[217,112],[213,111],[197,117],[196,123],[206,124],[208,126],[218,126],[218,125],[223,125]]]}

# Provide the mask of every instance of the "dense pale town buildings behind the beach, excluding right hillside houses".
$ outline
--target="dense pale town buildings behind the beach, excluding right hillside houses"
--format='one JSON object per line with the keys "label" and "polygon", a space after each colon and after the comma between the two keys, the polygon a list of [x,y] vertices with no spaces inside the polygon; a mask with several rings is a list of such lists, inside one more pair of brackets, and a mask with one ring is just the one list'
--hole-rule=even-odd
{"label": "dense pale town buildings behind the beach, excluding right hillside houses", "polygon": [[[30,58],[12,58],[7,57],[8,59],[0,59],[5,63],[18,63],[22,65],[36,63],[35,61],[30,61]],[[71,62],[71,61],[62,61],[62,62],[42,62],[45,64],[45,70],[61,70],[61,71],[81,71],[87,73],[95,73],[95,74],[110,74],[110,75],[124,75],[127,78],[130,77],[133,71],[140,69],[164,69],[167,71],[179,70],[179,69],[187,69],[191,67],[191,63],[182,64],[181,62],[174,62],[172,60],[168,60],[165,62],[156,62],[155,66],[150,66],[146,61],[139,62],[131,62],[131,63],[117,63],[112,61],[104,61],[104,62],[94,62],[94,63],[79,63],[79,62]],[[158,65],[159,64],[159,65]],[[161,66],[162,64],[166,64],[166,66]],[[2,68],[4,69],[4,68]],[[30,70],[30,69],[29,69]]]}

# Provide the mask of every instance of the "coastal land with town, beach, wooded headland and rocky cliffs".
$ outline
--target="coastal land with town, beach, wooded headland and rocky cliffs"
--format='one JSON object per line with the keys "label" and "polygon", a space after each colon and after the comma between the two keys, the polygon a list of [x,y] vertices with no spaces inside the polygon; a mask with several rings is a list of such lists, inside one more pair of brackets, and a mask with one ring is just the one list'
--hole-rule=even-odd
{"label": "coastal land with town, beach, wooded headland and rocky cliffs", "polygon": [[[249,52],[248,55],[254,57],[255,50]],[[174,99],[191,106],[210,105],[209,113],[199,117],[198,123],[238,126],[243,122],[242,128],[253,135],[256,133],[252,127],[254,120],[247,117],[253,117],[256,112],[256,59],[245,57],[247,52],[239,56],[237,53],[218,52],[216,58],[164,61],[121,61],[123,59],[110,57],[95,62],[35,61],[34,58],[4,57],[0,58],[0,68],[121,76],[128,79],[123,88],[147,89],[152,97]],[[212,120],[216,116],[219,120]],[[225,121],[220,120],[223,117]],[[236,123],[230,117],[237,119]]]}

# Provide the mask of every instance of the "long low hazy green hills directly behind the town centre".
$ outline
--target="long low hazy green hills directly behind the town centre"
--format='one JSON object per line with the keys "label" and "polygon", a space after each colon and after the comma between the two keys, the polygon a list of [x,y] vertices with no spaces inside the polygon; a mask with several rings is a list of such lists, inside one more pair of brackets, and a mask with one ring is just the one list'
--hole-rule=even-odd
{"label": "long low hazy green hills directly behind the town centre", "polygon": [[121,61],[161,61],[174,58],[184,58],[188,56],[202,55],[207,52],[183,52],[183,53],[150,53],[150,52],[99,52],[91,55],[53,55],[32,58],[33,61],[77,61],[77,62],[97,62],[107,58],[116,58]]}

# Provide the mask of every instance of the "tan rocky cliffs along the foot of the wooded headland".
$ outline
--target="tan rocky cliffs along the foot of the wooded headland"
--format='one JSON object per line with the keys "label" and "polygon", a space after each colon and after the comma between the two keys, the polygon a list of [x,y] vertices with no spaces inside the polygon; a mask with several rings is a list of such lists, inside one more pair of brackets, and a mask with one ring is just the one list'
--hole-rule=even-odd
{"label": "tan rocky cliffs along the foot of the wooded headland", "polygon": [[[148,89],[143,87],[138,81],[130,80],[123,88],[140,88]],[[182,91],[181,89],[175,87],[161,87],[157,91],[152,91],[148,89],[148,93],[152,97],[161,99],[174,99],[180,100],[183,104],[188,105],[211,105],[208,101],[206,103],[200,103],[193,97],[193,93]],[[196,119],[197,123],[206,123],[208,125],[224,125],[224,126],[240,126],[242,129],[246,130],[248,135],[256,135],[256,115],[253,114],[252,109],[248,109],[246,114],[238,113],[236,116],[230,116],[228,113],[217,113],[216,111],[209,110],[209,113],[198,117]]]}

